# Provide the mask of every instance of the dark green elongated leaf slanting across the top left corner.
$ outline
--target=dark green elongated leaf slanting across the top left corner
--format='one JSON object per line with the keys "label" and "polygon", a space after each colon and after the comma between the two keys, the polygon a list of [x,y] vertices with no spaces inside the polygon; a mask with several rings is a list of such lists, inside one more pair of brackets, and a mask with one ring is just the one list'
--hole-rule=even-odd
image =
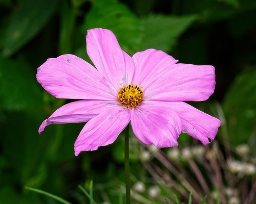
{"label": "dark green elongated leaf slanting across the top left corner", "polygon": [[15,53],[20,47],[33,38],[54,13],[57,1],[33,0],[22,1],[15,10],[4,39],[5,56]]}

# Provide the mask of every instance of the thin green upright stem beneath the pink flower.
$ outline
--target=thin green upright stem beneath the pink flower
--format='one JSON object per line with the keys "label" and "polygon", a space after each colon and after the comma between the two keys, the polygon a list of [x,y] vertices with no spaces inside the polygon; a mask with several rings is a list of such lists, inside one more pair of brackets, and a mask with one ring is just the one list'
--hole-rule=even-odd
{"label": "thin green upright stem beneath the pink flower", "polygon": [[131,203],[131,181],[130,181],[130,161],[129,161],[129,124],[124,131],[124,168],[125,168],[125,192],[126,204]]}

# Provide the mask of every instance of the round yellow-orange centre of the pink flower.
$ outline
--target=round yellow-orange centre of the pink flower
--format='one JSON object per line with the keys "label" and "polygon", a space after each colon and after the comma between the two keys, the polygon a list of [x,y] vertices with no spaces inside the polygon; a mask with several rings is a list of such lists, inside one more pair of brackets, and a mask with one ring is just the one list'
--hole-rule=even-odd
{"label": "round yellow-orange centre of the pink flower", "polygon": [[144,91],[137,84],[129,84],[120,88],[117,92],[117,99],[126,108],[136,108],[143,100]]}

